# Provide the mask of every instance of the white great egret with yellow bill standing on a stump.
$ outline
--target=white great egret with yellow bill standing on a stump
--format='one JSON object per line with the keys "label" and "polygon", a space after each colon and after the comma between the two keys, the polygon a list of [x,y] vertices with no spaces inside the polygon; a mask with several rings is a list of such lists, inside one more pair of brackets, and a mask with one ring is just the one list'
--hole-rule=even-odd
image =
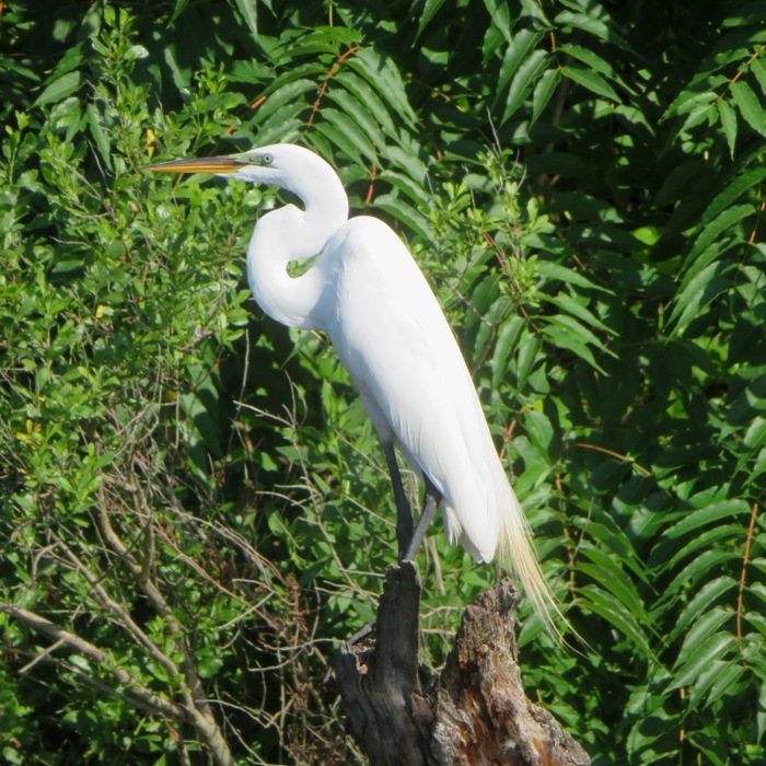
{"label": "white great egret with yellow bill standing on a stump", "polygon": [[[150,165],[155,173],[214,173],[278,186],[286,205],[258,220],[247,248],[253,297],[289,327],[321,329],[359,388],[383,442],[397,508],[399,559],[411,559],[441,503],[448,542],[477,561],[517,572],[548,628],[558,612],[530,543],[463,356],[422,272],[396,233],[369,216],[349,219],[348,197],[317,154],[280,143],[243,154]],[[294,260],[315,263],[291,277]],[[417,527],[394,452],[426,485]]]}

